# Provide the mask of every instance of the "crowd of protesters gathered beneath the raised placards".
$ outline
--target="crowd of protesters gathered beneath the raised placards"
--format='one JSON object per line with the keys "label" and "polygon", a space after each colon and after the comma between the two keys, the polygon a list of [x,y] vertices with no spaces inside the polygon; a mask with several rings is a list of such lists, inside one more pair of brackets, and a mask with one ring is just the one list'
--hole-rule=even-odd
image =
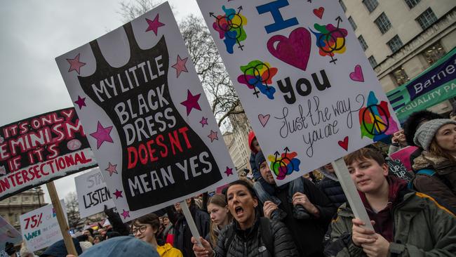
{"label": "crowd of protesters gathered beneath the raised placards", "polygon": [[[129,224],[105,209],[109,225],[83,230],[74,238],[76,251],[81,256],[456,256],[455,117],[416,112],[394,133],[389,150],[370,145],[344,157],[373,230],[354,216],[331,164],[276,185],[252,132],[252,179],[185,201],[200,238],[192,237],[179,203]],[[416,147],[409,157],[411,181],[391,173],[385,160],[408,146]],[[25,245],[8,254],[34,256]],[[67,256],[65,244],[57,242],[40,256]]]}

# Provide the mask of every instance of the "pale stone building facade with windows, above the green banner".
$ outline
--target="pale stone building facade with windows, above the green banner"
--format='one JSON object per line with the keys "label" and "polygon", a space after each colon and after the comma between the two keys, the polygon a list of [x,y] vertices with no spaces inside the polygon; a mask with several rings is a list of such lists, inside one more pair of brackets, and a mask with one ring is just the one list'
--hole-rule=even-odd
{"label": "pale stone building facade with windows, above the green banner", "polygon": [[[405,84],[456,46],[454,0],[340,0],[385,92]],[[431,108],[448,112],[448,101]]]}

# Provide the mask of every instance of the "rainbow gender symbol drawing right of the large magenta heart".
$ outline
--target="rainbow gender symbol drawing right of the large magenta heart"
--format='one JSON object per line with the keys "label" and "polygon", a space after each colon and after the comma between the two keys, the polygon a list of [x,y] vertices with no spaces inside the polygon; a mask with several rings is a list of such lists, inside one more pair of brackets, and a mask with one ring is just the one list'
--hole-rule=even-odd
{"label": "rainbow gender symbol drawing right of the large magenta heart", "polygon": [[332,24],[319,25],[314,24],[316,32],[311,32],[316,37],[316,46],[318,46],[318,53],[321,56],[330,56],[330,62],[335,64],[337,59],[334,58],[336,53],[342,54],[346,50],[347,29],[339,27],[340,18],[337,20],[337,27]]}

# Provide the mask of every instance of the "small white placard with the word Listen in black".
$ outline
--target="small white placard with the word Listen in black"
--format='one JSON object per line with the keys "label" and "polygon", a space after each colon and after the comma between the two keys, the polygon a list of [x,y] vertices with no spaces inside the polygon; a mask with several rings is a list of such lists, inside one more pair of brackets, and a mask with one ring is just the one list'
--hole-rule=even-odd
{"label": "small white placard with the word Listen in black", "polygon": [[107,208],[114,207],[112,195],[99,168],[74,178],[78,195],[79,214],[86,218]]}

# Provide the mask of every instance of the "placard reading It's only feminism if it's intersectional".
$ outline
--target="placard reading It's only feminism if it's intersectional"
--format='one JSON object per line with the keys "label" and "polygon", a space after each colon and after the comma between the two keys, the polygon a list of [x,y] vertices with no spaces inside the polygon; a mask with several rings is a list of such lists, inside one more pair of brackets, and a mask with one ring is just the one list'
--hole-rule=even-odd
{"label": "placard reading It's only feminism if it's intersectional", "polygon": [[0,200],[96,165],[74,107],[0,127]]}

